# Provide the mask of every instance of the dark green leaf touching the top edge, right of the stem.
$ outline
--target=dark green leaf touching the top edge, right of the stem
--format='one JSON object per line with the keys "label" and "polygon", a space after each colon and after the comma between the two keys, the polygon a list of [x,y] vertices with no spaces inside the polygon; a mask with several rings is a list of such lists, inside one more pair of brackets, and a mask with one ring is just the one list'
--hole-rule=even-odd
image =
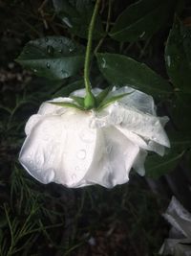
{"label": "dark green leaf touching the top edge, right of the stem", "polygon": [[119,41],[134,42],[154,35],[169,18],[174,0],[140,0],[122,12],[110,33]]}

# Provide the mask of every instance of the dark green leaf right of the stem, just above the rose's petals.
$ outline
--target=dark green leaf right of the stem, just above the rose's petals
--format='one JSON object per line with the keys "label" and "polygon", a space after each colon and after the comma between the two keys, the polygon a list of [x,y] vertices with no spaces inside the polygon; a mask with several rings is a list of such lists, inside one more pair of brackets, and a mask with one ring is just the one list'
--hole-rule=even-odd
{"label": "dark green leaf right of the stem, just above the rose's petals", "polygon": [[167,81],[133,58],[117,54],[97,54],[96,58],[101,73],[112,84],[129,85],[155,97],[171,92]]}

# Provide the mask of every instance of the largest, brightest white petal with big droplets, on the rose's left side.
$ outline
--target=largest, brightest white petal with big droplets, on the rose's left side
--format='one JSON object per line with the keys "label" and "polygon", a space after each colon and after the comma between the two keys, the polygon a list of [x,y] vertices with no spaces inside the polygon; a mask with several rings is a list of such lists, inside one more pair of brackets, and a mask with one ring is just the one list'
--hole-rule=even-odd
{"label": "largest, brightest white petal with big droplets, on the rose's left side", "polygon": [[89,116],[80,111],[42,118],[26,139],[20,162],[42,183],[75,186],[93,160],[96,130],[87,130],[88,123]]}

